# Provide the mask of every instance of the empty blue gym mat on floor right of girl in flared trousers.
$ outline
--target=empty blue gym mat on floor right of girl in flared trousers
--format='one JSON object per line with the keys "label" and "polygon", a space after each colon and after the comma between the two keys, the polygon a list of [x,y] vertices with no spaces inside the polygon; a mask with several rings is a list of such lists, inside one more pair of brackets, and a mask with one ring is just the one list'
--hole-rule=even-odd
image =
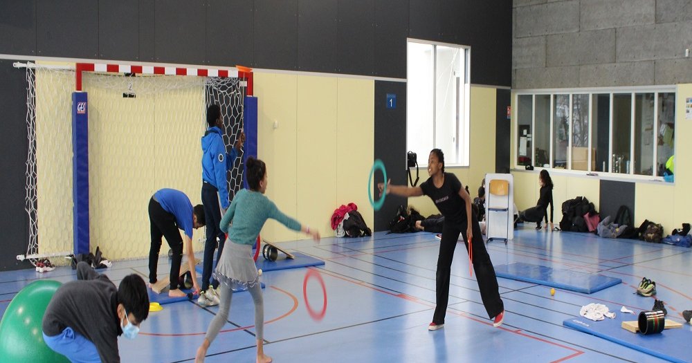
{"label": "empty blue gym mat on floor right of girl in flared trousers", "polygon": [[495,266],[495,274],[505,279],[513,279],[539,285],[561,288],[585,294],[592,294],[604,288],[621,283],[621,279],[607,277],[601,274],[556,270],[531,263],[515,262],[509,265]]}

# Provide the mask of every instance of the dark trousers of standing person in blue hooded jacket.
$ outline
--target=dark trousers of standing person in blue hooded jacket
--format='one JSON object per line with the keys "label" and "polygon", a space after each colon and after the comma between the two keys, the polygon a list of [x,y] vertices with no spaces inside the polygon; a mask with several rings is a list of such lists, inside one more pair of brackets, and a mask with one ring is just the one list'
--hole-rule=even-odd
{"label": "dark trousers of standing person in blue hooded jacket", "polygon": [[[202,183],[202,205],[204,205],[204,217],[206,219],[207,240],[204,243],[204,260],[202,262],[202,291],[209,288],[209,279],[214,269],[214,250],[219,241],[217,261],[221,259],[224,251],[226,235],[221,231],[221,210],[219,210],[218,189],[209,183]],[[218,288],[219,281],[212,281],[212,287]]]}

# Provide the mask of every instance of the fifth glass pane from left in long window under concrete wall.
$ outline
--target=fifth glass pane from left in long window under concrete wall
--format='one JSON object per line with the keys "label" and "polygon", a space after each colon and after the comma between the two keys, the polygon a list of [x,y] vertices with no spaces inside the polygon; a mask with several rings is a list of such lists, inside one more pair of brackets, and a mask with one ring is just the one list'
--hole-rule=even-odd
{"label": "fifth glass pane from left in long window under concrete wall", "polygon": [[596,163],[591,171],[608,171],[608,140],[610,136],[610,94],[592,95],[591,147],[596,151],[592,156]]}

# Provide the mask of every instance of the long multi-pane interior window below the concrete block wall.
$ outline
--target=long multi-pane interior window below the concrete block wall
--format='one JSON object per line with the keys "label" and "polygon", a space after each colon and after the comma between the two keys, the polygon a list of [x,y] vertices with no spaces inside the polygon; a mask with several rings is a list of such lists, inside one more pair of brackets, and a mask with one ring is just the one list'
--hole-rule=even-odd
{"label": "long multi-pane interior window below the concrete block wall", "polygon": [[650,89],[518,92],[516,165],[663,176],[675,153],[675,92]]}

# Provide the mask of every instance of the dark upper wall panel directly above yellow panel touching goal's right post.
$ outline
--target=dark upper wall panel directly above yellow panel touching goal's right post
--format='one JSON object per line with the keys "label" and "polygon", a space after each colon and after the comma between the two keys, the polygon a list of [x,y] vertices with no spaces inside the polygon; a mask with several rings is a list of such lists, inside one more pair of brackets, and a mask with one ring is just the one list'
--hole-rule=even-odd
{"label": "dark upper wall panel directly above yellow panel touching goal's right post", "polygon": [[256,0],[253,39],[255,67],[295,70],[298,0]]}

